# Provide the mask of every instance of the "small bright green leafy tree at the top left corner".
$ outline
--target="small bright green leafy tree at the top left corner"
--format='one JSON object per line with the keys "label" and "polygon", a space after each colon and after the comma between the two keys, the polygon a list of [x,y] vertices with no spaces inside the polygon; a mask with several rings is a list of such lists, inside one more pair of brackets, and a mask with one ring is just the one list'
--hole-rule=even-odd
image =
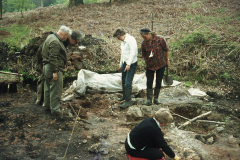
{"label": "small bright green leafy tree at the top left corner", "polygon": [[30,0],[9,0],[15,10],[21,11],[23,17],[23,9],[30,9],[33,7]]}

